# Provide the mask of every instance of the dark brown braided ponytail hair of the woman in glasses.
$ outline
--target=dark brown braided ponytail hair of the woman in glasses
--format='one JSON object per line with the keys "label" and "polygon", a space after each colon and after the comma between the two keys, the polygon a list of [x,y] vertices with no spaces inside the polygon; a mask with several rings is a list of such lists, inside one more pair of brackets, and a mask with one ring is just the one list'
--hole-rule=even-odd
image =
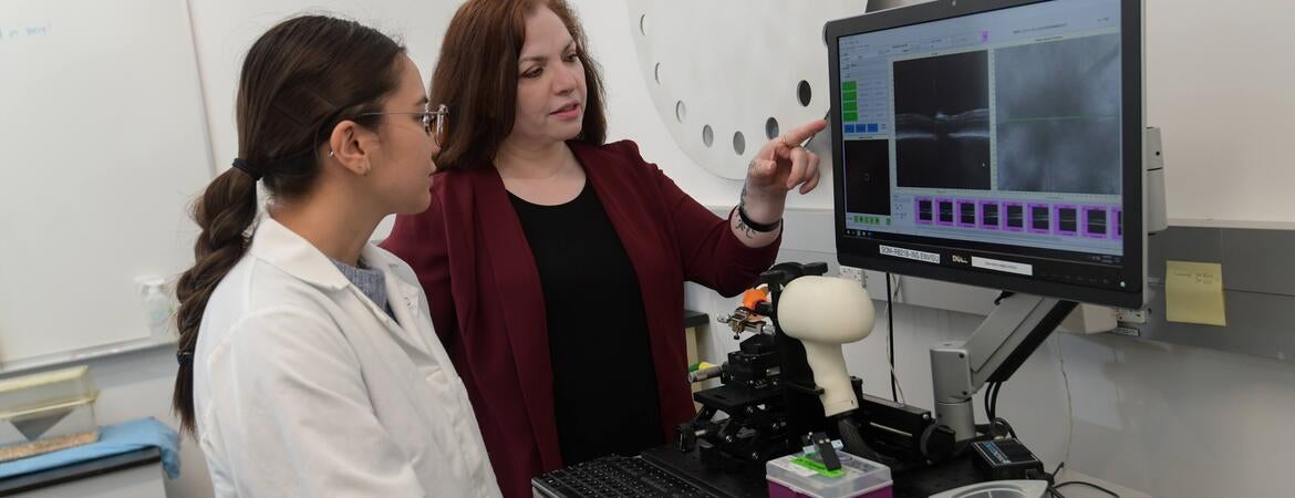
{"label": "dark brown braided ponytail hair of the woman in glasses", "polygon": [[[193,353],[207,300],[242,259],[256,219],[256,179],[277,198],[299,198],[319,176],[319,153],[343,119],[376,125],[399,81],[404,47],[354,21],[297,17],[269,28],[243,60],[238,80],[238,157],[243,168],[218,176],[193,204],[202,229],[194,264],[176,286],[180,370],[172,409],[194,433]],[[245,171],[246,169],[246,171]]]}

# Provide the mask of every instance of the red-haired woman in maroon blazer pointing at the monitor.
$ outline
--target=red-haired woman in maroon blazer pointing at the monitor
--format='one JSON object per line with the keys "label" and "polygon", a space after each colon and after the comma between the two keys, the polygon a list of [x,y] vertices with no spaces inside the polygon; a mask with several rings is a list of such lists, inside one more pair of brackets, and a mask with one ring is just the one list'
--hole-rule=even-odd
{"label": "red-haired woman in maroon blazer pointing at the monitor", "polygon": [[561,0],[469,0],[431,81],[451,120],[431,207],[383,247],[418,273],[505,495],[563,464],[660,445],[693,417],[684,282],[724,295],[777,254],[783,200],[818,184],[764,145],[721,219],[633,142],[603,144],[597,66]]}

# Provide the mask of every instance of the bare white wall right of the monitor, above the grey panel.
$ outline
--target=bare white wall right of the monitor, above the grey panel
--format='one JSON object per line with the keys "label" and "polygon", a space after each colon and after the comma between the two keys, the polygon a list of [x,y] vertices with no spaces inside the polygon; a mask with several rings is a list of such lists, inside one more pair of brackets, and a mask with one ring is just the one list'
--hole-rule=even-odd
{"label": "bare white wall right of the monitor, above the grey panel", "polygon": [[1147,123],[1171,217],[1295,221],[1295,3],[1146,0]]}

